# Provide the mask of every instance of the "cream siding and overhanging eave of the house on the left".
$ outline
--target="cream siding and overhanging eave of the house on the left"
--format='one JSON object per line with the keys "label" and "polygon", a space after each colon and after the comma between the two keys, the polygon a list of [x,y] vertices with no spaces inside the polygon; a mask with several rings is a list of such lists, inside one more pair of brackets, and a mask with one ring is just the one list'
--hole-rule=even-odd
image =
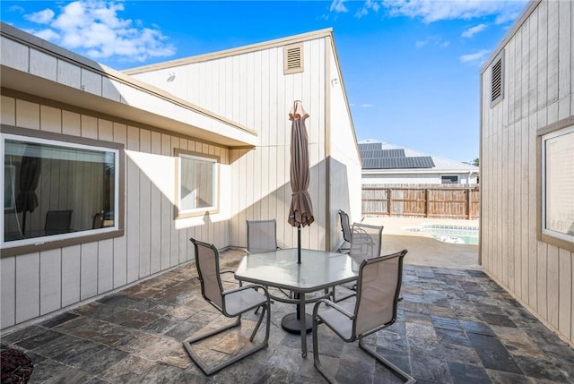
{"label": "cream siding and overhanging eave of the house on the left", "polygon": [[[117,73],[4,23],[1,27],[0,123],[16,133],[49,132],[72,142],[86,138],[120,144],[125,199],[120,198],[124,222],[117,237],[79,238],[64,246],[34,244],[34,252],[2,250],[0,329],[192,260],[190,237],[218,248],[245,246],[248,218],[276,218],[280,245],[295,246],[296,229],[287,224],[288,112],[295,99],[310,114],[309,192],[316,217],[302,230],[302,246],[332,248],[329,231],[334,223],[328,217],[338,207],[328,205],[327,180],[339,175],[328,177],[326,159],[327,125],[333,118],[326,112],[326,68],[336,63],[336,55],[327,53],[334,52],[330,30],[208,55],[206,61],[184,60],[177,68],[159,65],[152,77],[138,80],[135,74]],[[304,71],[283,74],[283,46],[297,42],[303,44]],[[344,97],[336,102],[342,100],[346,103]],[[345,118],[336,130],[352,132],[350,115]],[[220,158],[216,213],[174,219],[176,149]],[[358,157],[348,145],[343,152],[345,156],[335,151],[337,161]],[[356,175],[360,177],[360,168]],[[360,183],[356,189],[356,196],[349,193],[349,199],[357,199],[350,206],[360,207]],[[30,214],[30,220],[40,222],[33,215],[39,213]]]}

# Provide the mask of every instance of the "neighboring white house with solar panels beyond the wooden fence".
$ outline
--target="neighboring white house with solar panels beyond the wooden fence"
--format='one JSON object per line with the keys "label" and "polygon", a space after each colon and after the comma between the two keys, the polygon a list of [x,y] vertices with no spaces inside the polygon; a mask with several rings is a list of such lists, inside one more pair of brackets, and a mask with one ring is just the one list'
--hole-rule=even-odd
{"label": "neighboring white house with solar panels beyond the wooden fence", "polygon": [[476,184],[478,166],[372,139],[359,142],[362,183]]}

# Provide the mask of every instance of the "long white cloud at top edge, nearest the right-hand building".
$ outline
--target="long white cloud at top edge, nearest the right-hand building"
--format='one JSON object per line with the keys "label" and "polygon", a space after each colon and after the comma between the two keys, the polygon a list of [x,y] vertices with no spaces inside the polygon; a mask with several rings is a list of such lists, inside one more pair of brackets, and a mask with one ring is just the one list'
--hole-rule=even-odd
{"label": "long white cloud at top edge, nearest the right-hand building", "polygon": [[497,23],[513,21],[522,12],[526,0],[382,0],[391,15],[422,18],[430,23],[441,20],[471,20],[496,16]]}

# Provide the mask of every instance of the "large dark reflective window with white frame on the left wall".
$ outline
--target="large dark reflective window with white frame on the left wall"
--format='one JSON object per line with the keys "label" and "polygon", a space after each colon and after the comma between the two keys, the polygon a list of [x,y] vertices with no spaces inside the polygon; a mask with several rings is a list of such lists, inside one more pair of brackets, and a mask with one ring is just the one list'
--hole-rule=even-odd
{"label": "large dark reflective window with white frame on the left wall", "polygon": [[15,134],[0,145],[3,250],[118,230],[119,149]]}

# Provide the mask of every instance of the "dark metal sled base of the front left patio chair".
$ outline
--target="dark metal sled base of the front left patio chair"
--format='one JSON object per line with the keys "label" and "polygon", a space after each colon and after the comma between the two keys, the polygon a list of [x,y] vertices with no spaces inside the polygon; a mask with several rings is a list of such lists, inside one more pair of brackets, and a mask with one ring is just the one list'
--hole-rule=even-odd
{"label": "dark metal sled base of the front left patio chair", "polygon": [[244,352],[243,354],[238,354],[237,356],[235,356],[235,357],[233,357],[227,361],[224,361],[218,365],[215,365],[210,369],[207,364],[204,364],[201,361],[200,357],[196,354],[196,352],[192,348],[192,346],[194,344],[196,344],[197,342],[199,342],[201,340],[204,340],[208,337],[213,337],[214,335],[222,333],[225,330],[238,327],[241,324],[241,315],[239,315],[237,317],[237,320],[234,321],[233,323],[231,323],[230,325],[222,327],[221,329],[214,329],[213,331],[208,332],[208,333],[201,335],[201,336],[198,336],[198,337],[188,338],[186,341],[183,342],[183,346],[186,348],[187,354],[189,354],[189,357],[191,357],[191,360],[193,360],[193,362],[196,363],[196,365],[205,373],[206,376],[211,376],[211,375],[213,375],[213,373],[215,373],[217,371],[221,371],[223,368],[225,368],[225,367],[227,367],[233,363],[239,362],[239,360],[243,359],[244,357],[247,357],[249,354],[255,354],[257,351],[265,348],[269,344],[269,329],[271,327],[271,316],[269,316],[271,311],[268,308],[269,305],[270,305],[270,303],[268,301],[267,301],[267,303],[262,305],[263,310],[261,311],[261,316],[259,317],[259,320],[257,321],[257,325],[256,325],[254,331],[252,332],[251,337],[249,337],[249,341],[253,342],[253,339],[255,338],[255,336],[257,334],[257,330],[259,329],[259,326],[261,325],[261,322],[263,320],[263,316],[265,315],[265,311],[267,311],[267,320],[266,320],[267,329],[265,329],[265,339],[261,343],[257,344],[257,346],[254,346],[253,348],[249,349],[247,352]]}

